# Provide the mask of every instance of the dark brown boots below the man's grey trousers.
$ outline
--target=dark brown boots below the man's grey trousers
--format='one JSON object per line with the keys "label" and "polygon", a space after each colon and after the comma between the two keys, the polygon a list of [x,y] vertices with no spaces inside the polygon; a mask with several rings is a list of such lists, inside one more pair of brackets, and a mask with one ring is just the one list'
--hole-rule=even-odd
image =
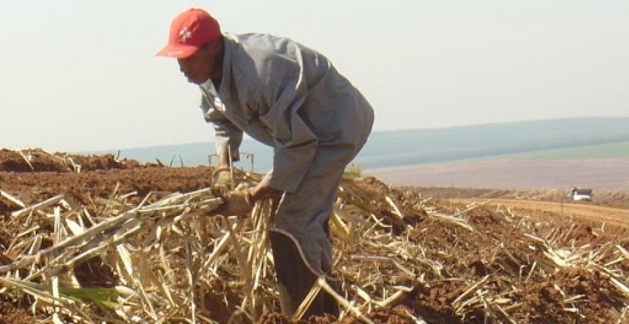
{"label": "dark brown boots below the man's grey trousers", "polygon": [[[291,237],[271,230],[269,239],[273,249],[282,315],[291,317],[319,276],[310,271],[306,260],[301,258],[300,247]],[[329,284],[336,289],[336,281],[330,280]],[[338,304],[334,297],[321,290],[306,310],[303,319],[308,319],[312,315],[323,316],[325,313],[338,316]]]}

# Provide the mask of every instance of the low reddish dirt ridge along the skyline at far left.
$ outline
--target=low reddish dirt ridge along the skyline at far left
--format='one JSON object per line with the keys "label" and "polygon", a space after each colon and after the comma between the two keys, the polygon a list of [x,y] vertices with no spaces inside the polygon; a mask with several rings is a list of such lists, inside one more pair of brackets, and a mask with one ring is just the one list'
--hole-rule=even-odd
{"label": "low reddish dirt ridge along the skyline at far left", "polygon": [[0,172],[88,172],[163,166],[161,163],[142,164],[133,159],[118,161],[113,154],[78,155],[51,153],[41,149],[0,150]]}

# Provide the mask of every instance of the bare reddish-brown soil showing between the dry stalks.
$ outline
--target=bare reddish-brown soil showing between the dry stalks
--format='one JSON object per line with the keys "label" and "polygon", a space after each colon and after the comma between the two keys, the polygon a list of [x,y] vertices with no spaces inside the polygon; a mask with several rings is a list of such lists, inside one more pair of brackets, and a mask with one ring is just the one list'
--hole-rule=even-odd
{"label": "bare reddish-brown soil showing between the dry stalks", "polygon": [[[108,198],[117,191],[130,193],[136,191],[132,202],[139,202],[147,194],[156,197],[174,191],[192,191],[210,185],[211,170],[209,167],[170,168],[154,165],[140,165],[134,161],[116,162],[112,156],[103,157],[72,157],[74,163],[82,165],[82,172],[71,172],[68,165],[58,161],[45,152],[31,152],[36,157],[32,165],[36,170],[32,172],[25,160],[14,151],[0,151],[0,189],[20,199],[25,204],[41,202],[60,193],[80,204],[95,206],[92,202],[99,198]],[[38,153],[38,154],[36,154]],[[17,157],[15,156],[17,154]],[[62,154],[60,154],[61,156]],[[50,157],[49,160],[46,160]],[[36,163],[33,163],[36,161]],[[26,167],[25,167],[26,165]],[[92,168],[92,169],[90,169]],[[407,218],[392,224],[400,235],[404,235],[409,242],[421,246],[425,251],[425,258],[441,260],[443,268],[440,273],[433,273],[429,267],[420,269],[428,273],[424,284],[416,285],[416,281],[405,280],[393,265],[387,262],[362,262],[351,260],[356,255],[386,255],[376,247],[355,245],[345,248],[343,265],[354,270],[354,273],[379,273],[382,283],[415,286],[412,293],[406,295],[391,310],[375,310],[369,317],[375,323],[413,323],[412,316],[421,317],[428,323],[495,323],[496,319],[477,312],[465,317],[456,313],[453,301],[459,297],[473,282],[478,282],[485,275],[491,275],[491,284],[484,288],[498,291],[502,297],[514,301],[517,308],[508,309],[508,313],[517,323],[583,323],[585,321],[578,314],[570,312],[570,305],[565,301],[567,297],[583,295],[580,303],[587,303],[587,308],[581,315],[590,323],[615,323],[617,317],[613,309],[620,310],[623,306],[622,297],[610,286],[608,278],[600,272],[579,269],[561,269],[548,271],[547,276],[534,274],[530,281],[517,280],[518,273],[528,273],[532,260],[540,260],[541,252],[534,241],[527,239],[520,228],[513,226],[506,217],[519,220],[534,219],[540,225],[534,228],[541,237],[557,228],[568,229],[570,234],[563,242],[578,245],[590,244],[592,248],[603,245],[620,245],[629,249],[627,229],[618,224],[609,224],[605,231],[599,230],[603,218],[597,218],[596,210],[589,217],[577,218],[575,226],[569,223],[568,217],[560,217],[554,210],[544,210],[539,206],[529,209],[513,208],[510,213],[497,211],[495,206],[476,208],[465,214],[469,224],[478,232],[470,232],[456,226],[444,224],[439,219],[427,217],[423,208],[453,215],[467,208],[461,202],[433,199],[430,204],[423,205],[417,191],[399,191],[380,183],[378,180],[366,179],[357,183],[365,192],[387,195],[399,202],[399,208]],[[424,198],[426,195],[424,195]],[[466,201],[467,202],[467,201]],[[415,208],[422,204],[421,208]],[[504,205],[503,205],[504,206]],[[581,205],[573,206],[580,209]],[[588,206],[591,207],[591,206]],[[5,256],[8,245],[18,233],[17,227],[8,222],[12,211],[19,206],[0,197],[0,263],[10,260]],[[391,214],[391,209],[382,204],[375,206],[375,213]],[[584,209],[583,209],[584,210]],[[395,217],[392,217],[393,219]],[[572,225],[571,225],[572,224]],[[410,226],[412,229],[406,231]],[[406,231],[406,232],[403,232]],[[497,243],[502,243],[497,249]],[[336,245],[338,245],[338,241]],[[443,251],[447,251],[444,254]],[[605,262],[611,261],[606,260]],[[86,286],[108,286],[112,282],[112,273],[99,267],[98,259],[90,260],[81,267],[82,277],[79,281]],[[503,266],[506,265],[506,266]],[[523,268],[522,268],[523,267]],[[539,265],[543,267],[543,265]],[[629,271],[629,265],[624,265],[624,271]],[[419,270],[418,270],[419,271]],[[431,274],[432,273],[432,274]],[[514,279],[515,278],[515,279]],[[507,280],[509,279],[509,280]],[[558,291],[556,287],[563,289]],[[214,287],[214,293],[208,293],[202,298],[206,308],[212,310],[212,318],[219,323],[226,323],[235,311],[233,305],[238,304],[241,297],[235,295],[226,285]],[[367,288],[365,288],[367,289]],[[378,296],[378,291],[368,291]],[[565,296],[564,296],[565,295]],[[225,303],[225,300],[229,301]],[[277,311],[277,310],[273,310]],[[33,323],[35,320],[23,308],[15,306],[6,300],[0,301],[0,323]],[[348,317],[341,323],[353,323],[355,319]],[[267,312],[258,323],[289,323],[277,312]],[[337,323],[330,316],[312,317],[304,323]]]}

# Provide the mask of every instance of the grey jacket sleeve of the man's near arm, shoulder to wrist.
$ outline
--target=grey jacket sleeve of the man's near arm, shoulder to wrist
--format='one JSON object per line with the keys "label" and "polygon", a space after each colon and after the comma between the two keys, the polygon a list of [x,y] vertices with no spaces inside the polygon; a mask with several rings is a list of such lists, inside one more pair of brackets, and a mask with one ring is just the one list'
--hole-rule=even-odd
{"label": "grey jacket sleeve of the man's near arm, shoulder to wrist", "polygon": [[[280,191],[295,192],[317,153],[319,139],[301,118],[307,87],[299,62],[278,58],[266,69],[260,120],[273,137],[273,169],[263,182]],[[265,111],[266,110],[266,111]]]}

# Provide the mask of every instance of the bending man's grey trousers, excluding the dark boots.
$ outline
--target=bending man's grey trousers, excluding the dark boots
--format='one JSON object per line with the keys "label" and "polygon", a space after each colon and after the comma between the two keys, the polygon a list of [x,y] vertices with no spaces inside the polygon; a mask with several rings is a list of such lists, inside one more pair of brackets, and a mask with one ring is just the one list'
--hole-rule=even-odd
{"label": "bending man's grey trousers, excluding the dark boots", "polygon": [[[369,107],[369,104],[366,105]],[[285,192],[282,196],[275,213],[275,228],[271,229],[287,234],[297,243],[301,257],[317,276],[332,271],[328,219],[334,211],[334,201],[345,167],[365,145],[373,125],[371,107],[349,111],[345,117],[355,120],[356,125],[361,127],[346,133],[344,141],[319,145],[297,190],[294,193]]]}

